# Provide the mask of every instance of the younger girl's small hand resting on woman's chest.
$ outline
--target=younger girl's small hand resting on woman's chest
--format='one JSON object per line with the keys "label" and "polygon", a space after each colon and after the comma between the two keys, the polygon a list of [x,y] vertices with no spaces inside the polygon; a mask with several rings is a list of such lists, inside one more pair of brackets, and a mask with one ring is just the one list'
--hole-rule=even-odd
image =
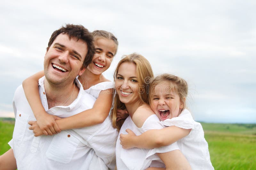
{"label": "younger girl's small hand resting on woman's chest", "polygon": [[135,139],[136,139],[136,135],[135,133],[133,133],[133,131],[131,131],[130,129],[126,129],[125,130],[128,134],[124,135],[124,134],[120,134],[120,144],[123,146],[124,149],[130,149],[135,146]]}

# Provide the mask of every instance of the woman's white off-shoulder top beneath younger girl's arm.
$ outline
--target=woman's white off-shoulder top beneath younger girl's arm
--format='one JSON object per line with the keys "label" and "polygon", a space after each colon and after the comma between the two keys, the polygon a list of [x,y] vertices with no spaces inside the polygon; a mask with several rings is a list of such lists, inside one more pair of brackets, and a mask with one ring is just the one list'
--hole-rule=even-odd
{"label": "woman's white off-shoulder top beneath younger girl's arm", "polygon": [[[158,117],[154,114],[149,116],[141,128],[138,128],[131,117],[127,117],[116,141],[116,166],[118,170],[142,170],[149,167],[152,160],[160,160],[156,153],[164,153],[179,149],[177,142],[169,146],[154,149],[131,148],[123,149],[120,144],[120,134],[127,134],[126,129],[132,130],[136,135],[140,135],[150,129],[162,129],[164,126],[160,123]],[[150,157],[150,158],[149,158]],[[148,159],[147,159],[148,158]]]}

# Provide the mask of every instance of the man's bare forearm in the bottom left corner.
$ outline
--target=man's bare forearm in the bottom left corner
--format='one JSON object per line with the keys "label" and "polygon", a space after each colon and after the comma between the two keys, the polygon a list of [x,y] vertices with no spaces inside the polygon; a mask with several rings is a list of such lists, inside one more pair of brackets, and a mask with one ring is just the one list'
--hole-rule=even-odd
{"label": "man's bare forearm in the bottom left corner", "polygon": [[0,156],[0,170],[12,169],[17,169],[17,165],[13,150],[9,149],[7,152]]}

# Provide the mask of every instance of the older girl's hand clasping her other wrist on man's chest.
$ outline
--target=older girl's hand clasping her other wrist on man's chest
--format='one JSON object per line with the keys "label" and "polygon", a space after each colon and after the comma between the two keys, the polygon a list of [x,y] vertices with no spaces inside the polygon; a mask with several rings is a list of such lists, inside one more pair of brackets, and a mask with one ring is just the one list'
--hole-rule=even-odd
{"label": "older girl's hand clasping her other wrist on man's chest", "polygon": [[60,128],[55,122],[55,120],[61,119],[60,117],[50,115],[46,112],[44,114],[40,114],[40,117],[36,117],[37,124],[40,127],[41,131],[44,135],[53,135],[60,133]]}

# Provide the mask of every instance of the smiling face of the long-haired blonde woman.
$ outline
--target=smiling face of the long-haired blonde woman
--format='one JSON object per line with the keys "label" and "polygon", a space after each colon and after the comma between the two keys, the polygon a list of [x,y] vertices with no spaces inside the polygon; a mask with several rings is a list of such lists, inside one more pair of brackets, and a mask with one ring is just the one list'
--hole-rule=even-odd
{"label": "smiling face of the long-haired blonde woman", "polygon": [[115,87],[122,103],[133,104],[140,101],[139,82],[134,63],[124,62],[120,65],[115,80]]}

